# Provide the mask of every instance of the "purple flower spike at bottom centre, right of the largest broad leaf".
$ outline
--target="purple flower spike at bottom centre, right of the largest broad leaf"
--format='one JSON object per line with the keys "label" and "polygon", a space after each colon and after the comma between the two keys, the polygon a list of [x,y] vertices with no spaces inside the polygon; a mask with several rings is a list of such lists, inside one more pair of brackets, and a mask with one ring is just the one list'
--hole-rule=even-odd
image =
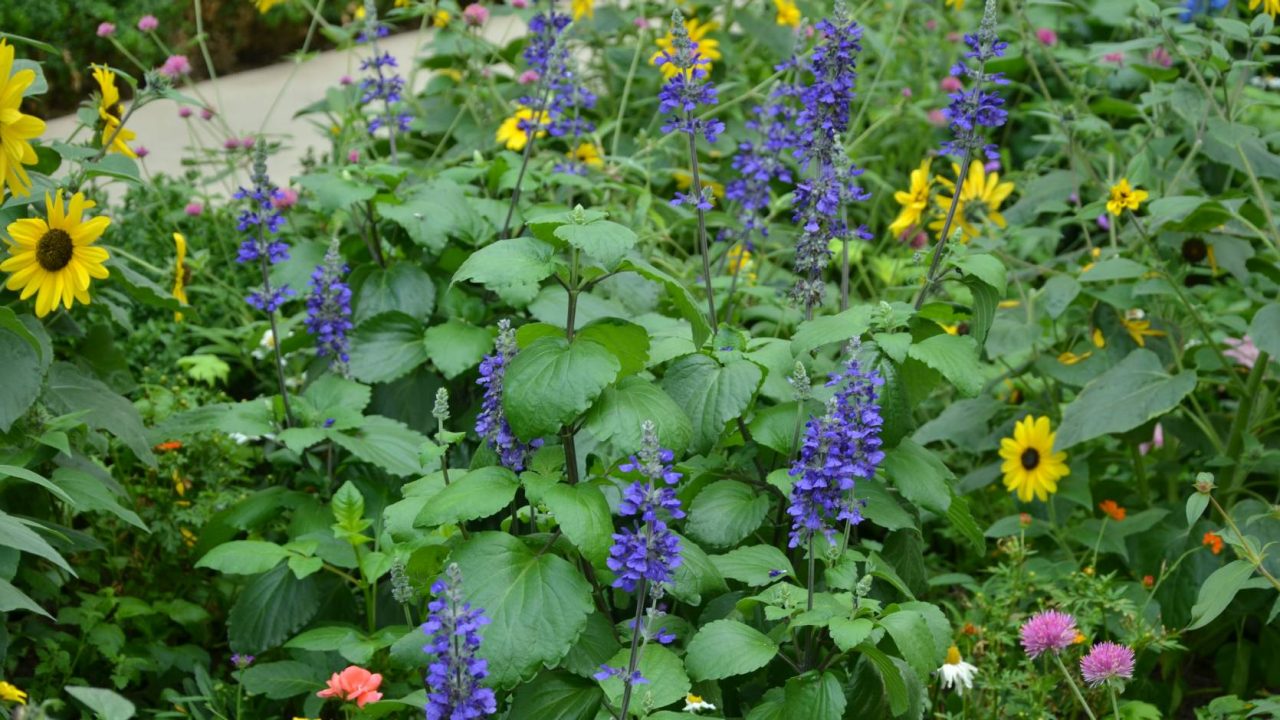
{"label": "purple flower spike at bottom centre, right of the largest broad leaf", "polygon": [[626,670],[603,665],[595,674],[598,680],[621,678],[623,689],[618,717],[627,716],[635,685],[648,682],[639,671],[644,646],[652,639],[663,643],[675,639],[662,629],[653,632],[653,623],[645,621],[646,615],[650,619],[658,615],[663,583],[675,578],[676,568],[681,564],[680,538],[663,519],[685,516],[672,487],[681,478],[671,466],[673,459],[672,451],[658,446],[658,430],[653,420],[645,420],[639,457],[632,455],[630,462],[618,468],[625,473],[639,471],[644,477],[622,493],[620,512],[623,518],[634,518],[634,525],[613,534],[613,547],[609,548],[607,561],[617,574],[613,587],[636,593],[636,615],[631,625],[631,653]]}

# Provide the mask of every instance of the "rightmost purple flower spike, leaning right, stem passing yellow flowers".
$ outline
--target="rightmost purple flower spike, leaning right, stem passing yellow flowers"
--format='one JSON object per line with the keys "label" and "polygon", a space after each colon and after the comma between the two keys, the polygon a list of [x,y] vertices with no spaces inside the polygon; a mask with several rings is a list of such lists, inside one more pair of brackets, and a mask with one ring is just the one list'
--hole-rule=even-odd
{"label": "rightmost purple flower spike, leaning right, stem passing yellow flowers", "polygon": [[938,268],[942,265],[942,250],[947,245],[951,234],[952,220],[956,209],[960,206],[960,191],[964,181],[969,176],[969,165],[974,154],[982,151],[987,159],[996,160],[1000,154],[995,145],[986,141],[984,128],[996,128],[1005,124],[1009,113],[1005,110],[1005,99],[987,88],[987,85],[1007,85],[1004,73],[987,73],[987,61],[1002,58],[1009,47],[996,36],[996,0],[987,0],[982,12],[982,24],[978,26],[978,35],[964,37],[969,51],[964,54],[964,61],[951,67],[955,77],[968,77],[973,82],[969,90],[959,90],[951,94],[951,104],[943,110],[947,122],[951,124],[952,140],[942,145],[942,151],[950,155],[960,155],[960,173],[956,176],[955,195],[951,196],[951,205],[947,208],[946,219],[942,220],[942,229],[938,232],[938,241],[933,246],[933,258],[929,260],[929,272],[924,277],[924,287],[915,297],[915,309],[924,305],[924,299],[933,290],[937,282]]}

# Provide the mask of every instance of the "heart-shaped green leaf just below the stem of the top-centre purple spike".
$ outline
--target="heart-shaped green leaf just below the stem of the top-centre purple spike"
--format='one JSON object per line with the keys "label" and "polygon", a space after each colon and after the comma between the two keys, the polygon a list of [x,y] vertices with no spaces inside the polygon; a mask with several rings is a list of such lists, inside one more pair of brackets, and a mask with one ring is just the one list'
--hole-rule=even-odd
{"label": "heart-shaped green leaf just below the stem of the top-centre purple spike", "polygon": [[764,379],[759,365],[741,357],[723,366],[707,355],[677,359],[667,368],[662,388],[692,421],[692,452],[707,452],[719,441],[724,424],[740,418]]}

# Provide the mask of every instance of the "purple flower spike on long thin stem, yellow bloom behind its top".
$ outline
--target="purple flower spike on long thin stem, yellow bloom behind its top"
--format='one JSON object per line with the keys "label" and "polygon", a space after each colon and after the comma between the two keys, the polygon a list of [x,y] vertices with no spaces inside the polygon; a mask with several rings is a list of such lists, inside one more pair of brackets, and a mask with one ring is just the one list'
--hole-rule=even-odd
{"label": "purple flower spike on long thin stem, yellow bloom behind its top", "polygon": [[659,68],[669,64],[676,68],[676,73],[667,78],[658,94],[658,110],[669,115],[662,126],[662,132],[682,132],[687,137],[689,169],[692,178],[690,187],[692,192],[689,195],[677,192],[671,204],[690,205],[698,214],[698,250],[703,256],[703,282],[707,286],[707,320],[712,328],[716,328],[719,325],[719,318],[716,314],[712,260],[707,247],[707,210],[712,209],[712,196],[710,188],[703,187],[701,173],[698,168],[698,136],[701,135],[708,143],[714,143],[724,132],[724,123],[714,118],[694,117],[694,110],[699,105],[714,105],[718,99],[716,85],[707,79],[707,68],[710,65],[710,60],[698,51],[698,44],[689,37],[685,17],[680,14],[680,10],[671,13],[671,50],[659,53],[655,63]]}

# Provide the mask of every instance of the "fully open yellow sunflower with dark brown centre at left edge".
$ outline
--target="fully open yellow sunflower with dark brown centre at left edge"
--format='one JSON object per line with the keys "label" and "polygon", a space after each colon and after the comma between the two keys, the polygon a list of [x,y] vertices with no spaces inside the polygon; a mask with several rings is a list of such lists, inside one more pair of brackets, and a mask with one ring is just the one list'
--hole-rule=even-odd
{"label": "fully open yellow sunflower with dark brown centre at left edge", "polygon": [[84,210],[93,206],[83,193],[72,196],[63,204],[63,191],[55,197],[45,193],[47,220],[24,218],[9,224],[9,258],[0,263],[0,270],[10,273],[5,287],[20,290],[27,300],[37,292],[36,315],[44,318],[59,305],[70,310],[74,301],[88,305],[90,278],[108,275],[102,263],[106,250],[95,247],[97,238],[111,224],[110,218],[84,218]]}

